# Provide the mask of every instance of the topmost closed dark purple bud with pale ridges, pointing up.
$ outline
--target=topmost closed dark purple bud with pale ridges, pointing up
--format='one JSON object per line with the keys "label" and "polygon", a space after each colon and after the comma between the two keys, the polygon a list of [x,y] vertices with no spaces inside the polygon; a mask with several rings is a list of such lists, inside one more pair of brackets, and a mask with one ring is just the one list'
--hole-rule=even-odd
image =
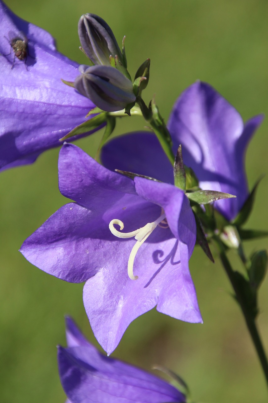
{"label": "topmost closed dark purple bud with pale ridges, pointing up", "polygon": [[85,54],[93,64],[109,66],[109,57],[118,56],[126,68],[126,60],[109,25],[95,14],[84,14],[78,22],[78,35]]}

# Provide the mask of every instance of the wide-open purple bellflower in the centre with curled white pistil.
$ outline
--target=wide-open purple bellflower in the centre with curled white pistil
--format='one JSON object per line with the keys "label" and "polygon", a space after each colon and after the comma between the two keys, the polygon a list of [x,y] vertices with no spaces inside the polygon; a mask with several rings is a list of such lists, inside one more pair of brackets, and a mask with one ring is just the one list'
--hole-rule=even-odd
{"label": "wide-open purple bellflower in the centre with curled white pistil", "polygon": [[184,192],[111,172],[70,143],[58,167],[59,189],[76,203],[53,214],[21,252],[49,274],[86,281],[85,310],[103,349],[110,354],[130,322],[155,305],[202,322],[188,268],[196,223]]}

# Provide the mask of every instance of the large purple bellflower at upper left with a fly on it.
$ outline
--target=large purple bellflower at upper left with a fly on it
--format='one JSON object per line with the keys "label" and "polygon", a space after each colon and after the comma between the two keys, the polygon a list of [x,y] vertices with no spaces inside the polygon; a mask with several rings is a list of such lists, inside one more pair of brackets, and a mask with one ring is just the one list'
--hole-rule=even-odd
{"label": "large purple bellflower at upper left with a fly on it", "polygon": [[[78,64],[56,50],[49,33],[2,1],[0,21],[0,168],[6,169],[30,164],[61,145],[59,139],[83,123],[95,105],[62,83],[76,79]],[[21,56],[11,46],[17,40],[26,46]]]}

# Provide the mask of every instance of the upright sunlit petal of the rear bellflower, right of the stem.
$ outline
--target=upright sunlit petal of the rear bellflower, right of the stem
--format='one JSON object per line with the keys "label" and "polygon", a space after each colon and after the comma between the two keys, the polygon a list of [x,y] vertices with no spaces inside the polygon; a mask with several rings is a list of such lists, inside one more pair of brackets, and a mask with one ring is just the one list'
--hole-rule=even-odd
{"label": "upright sunlit petal of the rear bellflower, right of the stem", "polygon": [[[169,119],[174,151],[181,143],[183,161],[193,168],[202,189],[237,196],[237,199],[216,202],[217,208],[229,219],[235,217],[248,195],[241,156],[250,135],[260,124],[260,117],[256,119],[251,122],[251,129],[244,132],[237,110],[210,85],[202,82],[196,82],[182,93]],[[239,152],[238,144],[242,147]],[[241,156],[237,158],[237,154]]]}

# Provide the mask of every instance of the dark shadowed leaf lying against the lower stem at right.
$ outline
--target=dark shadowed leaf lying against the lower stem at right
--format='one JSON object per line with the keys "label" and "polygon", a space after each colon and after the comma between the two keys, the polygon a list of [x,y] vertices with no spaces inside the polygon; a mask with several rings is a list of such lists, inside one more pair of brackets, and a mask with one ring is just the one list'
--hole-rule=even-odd
{"label": "dark shadowed leaf lying against the lower stem at right", "polygon": [[[247,312],[250,314],[252,319],[255,319],[259,312],[256,289],[251,287],[249,280],[247,280],[243,276],[243,274],[235,271],[233,272],[233,276],[236,282],[236,287],[239,290],[240,295],[242,296],[243,303],[245,304]],[[237,300],[236,297],[235,299]],[[237,302],[239,303],[238,300]]]}

